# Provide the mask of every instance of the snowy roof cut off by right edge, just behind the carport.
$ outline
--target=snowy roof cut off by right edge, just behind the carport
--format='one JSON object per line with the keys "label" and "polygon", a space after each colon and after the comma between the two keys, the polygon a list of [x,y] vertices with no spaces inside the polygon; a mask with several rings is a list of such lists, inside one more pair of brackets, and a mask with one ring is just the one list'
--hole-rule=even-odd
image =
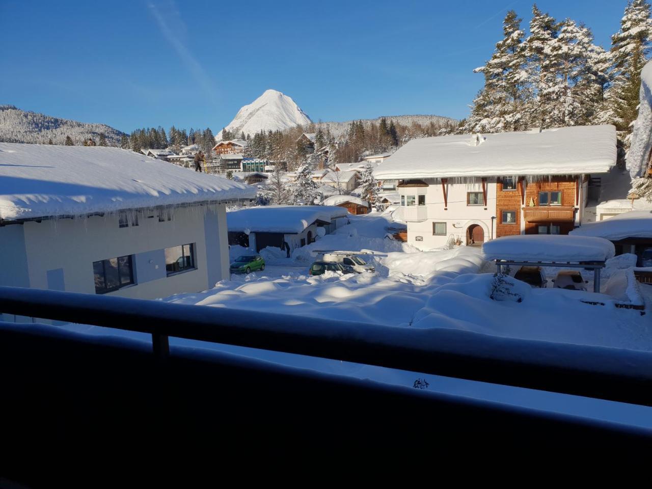
{"label": "snowy roof cut off by right edge, just behind the carport", "polygon": [[628,237],[652,238],[652,211],[631,211],[589,222],[571,231],[573,236],[597,236],[611,241]]}

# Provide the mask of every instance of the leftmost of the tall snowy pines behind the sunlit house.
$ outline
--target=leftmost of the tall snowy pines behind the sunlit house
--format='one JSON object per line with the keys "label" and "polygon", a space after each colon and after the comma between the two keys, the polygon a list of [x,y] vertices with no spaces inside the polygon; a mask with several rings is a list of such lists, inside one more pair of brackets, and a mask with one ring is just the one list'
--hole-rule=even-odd
{"label": "leftmost of the tall snowy pines behind the sunlit house", "polygon": [[478,93],[467,132],[503,132],[525,128],[523,108],[529,99],[526,90],[525,35],[520,18],[509,10],[503,20],[503,39],[496,43],[491,59],[473,72],[484,74],[484,88]]}

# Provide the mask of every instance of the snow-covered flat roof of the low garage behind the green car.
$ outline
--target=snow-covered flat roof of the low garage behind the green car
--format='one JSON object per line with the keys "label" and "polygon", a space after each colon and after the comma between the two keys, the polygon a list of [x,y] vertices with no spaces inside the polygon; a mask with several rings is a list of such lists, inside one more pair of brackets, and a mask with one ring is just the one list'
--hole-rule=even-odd
{"label": "snow-covered flat roof of the low garage behind the green car", "polygon": [[229,231],[296,234],[316,220],[331,222],[347,214],[332,205],[264,205],[226,213],[226,221]]}

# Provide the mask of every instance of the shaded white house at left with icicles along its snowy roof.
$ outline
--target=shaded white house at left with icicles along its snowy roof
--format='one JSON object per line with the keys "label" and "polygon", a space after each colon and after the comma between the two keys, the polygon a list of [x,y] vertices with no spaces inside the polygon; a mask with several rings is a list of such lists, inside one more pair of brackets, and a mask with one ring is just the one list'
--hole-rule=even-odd
{"label": "shaded white house at left with icicles along its snowy roof", "polygon": [[254,187],[115,147],[0,143],[0,284],[153,299],[229,276]]}

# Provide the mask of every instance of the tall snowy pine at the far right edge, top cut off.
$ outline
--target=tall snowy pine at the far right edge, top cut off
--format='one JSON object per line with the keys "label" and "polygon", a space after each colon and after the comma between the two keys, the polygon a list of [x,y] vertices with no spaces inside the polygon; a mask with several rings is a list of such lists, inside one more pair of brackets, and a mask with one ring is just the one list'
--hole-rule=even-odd
{"label": "tall snowy pine at the far right edge, top cut off", "polygon": [[613,82],[597,117],[600,123],[616,126],[625,148],[629,147],[630,125],[638,115],[641,70],[649,55],[651,36],[649,3],[630,0],[621,19],[621,28],[612,36]]}

